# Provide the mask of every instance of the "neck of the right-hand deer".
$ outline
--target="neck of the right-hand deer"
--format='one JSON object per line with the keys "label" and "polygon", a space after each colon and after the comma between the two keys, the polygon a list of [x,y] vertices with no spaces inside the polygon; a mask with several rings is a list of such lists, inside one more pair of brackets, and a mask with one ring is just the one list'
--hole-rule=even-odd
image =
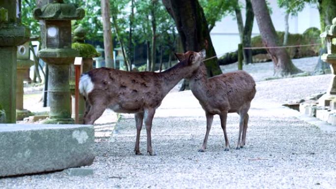
{"label": "neck of the right-hand deer", "polygon": [[206,91],[208,90],[207,85],[206,67],[202,62],[196,72],[190,78],[190,89],[198,100],[206,100]]}

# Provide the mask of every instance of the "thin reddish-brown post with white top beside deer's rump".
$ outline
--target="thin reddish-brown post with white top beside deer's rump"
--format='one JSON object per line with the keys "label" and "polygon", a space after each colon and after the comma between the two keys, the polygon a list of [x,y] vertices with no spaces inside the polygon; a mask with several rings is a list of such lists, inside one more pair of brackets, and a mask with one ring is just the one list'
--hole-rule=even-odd
{"label": "thin reddish-brown post with white top beside deer's rump", "polygon": [[79,124],[79,79],[82,74],[83,58],[75,58],[75,124]]}

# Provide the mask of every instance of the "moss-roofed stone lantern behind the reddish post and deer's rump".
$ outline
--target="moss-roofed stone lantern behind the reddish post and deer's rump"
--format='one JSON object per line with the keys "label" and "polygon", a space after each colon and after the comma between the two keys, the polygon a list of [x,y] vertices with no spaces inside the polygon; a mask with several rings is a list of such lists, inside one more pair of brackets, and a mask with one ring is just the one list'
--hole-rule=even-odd
{"label": "moss-roofed stone lantern behind the reddish post and deer's rump", "polygon": [[[93,57],[98,57],[100,54],[96,51],[96,49],[85,43],[86,31],[83,27],[79,26],[74,30],[74,43],[72,44],[72,48],[76,49],[79,52],[79,56],[83,57],[83,66],[82,72],[85,73],[89,70],[92,70]],[[75,118],[75,66],[71,65],[70,72],[70,91],[72,97],[72,118]],[[85,101],[83,96],[80,95],[79,100],[79,123],[83,122],[83,115],[85,112]]]}

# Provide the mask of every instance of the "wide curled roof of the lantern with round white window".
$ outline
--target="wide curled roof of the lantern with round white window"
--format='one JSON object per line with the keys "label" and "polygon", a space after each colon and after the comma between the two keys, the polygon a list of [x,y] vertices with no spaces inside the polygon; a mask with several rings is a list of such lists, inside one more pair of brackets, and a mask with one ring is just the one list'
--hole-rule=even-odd
{"label": "wide curled roof of the lantern with round white window", "polygon": [[54,0],[42,8],[34,8],[33,15],[36,20],[81,20],[85,11],[74,4],[64,3],[63,0]]}

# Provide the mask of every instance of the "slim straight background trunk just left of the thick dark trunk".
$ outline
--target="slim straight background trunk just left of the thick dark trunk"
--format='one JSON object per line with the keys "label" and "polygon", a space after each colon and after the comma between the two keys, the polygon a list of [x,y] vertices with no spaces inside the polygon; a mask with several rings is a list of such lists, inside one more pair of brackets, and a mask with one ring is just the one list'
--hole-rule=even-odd
{"label": "slim straight background trunk just left of the thick dark trunk", "polygon": [[156,65],[156,19],[155,19],[155,9],[157,5],[157,0],[152,0],[152,7],[150,9],[151,19],[152,19],[152,65],[151,65],[151,71],[155,71],[155,65]]}

